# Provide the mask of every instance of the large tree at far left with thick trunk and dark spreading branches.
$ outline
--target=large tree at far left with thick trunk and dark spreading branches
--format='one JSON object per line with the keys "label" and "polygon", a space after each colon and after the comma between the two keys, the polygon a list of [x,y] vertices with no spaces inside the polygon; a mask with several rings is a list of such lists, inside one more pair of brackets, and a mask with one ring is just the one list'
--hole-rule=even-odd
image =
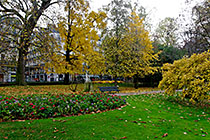
{"label": "large tree at far left with thick trunk and dark spreading branches", "polygon": [[[0,1],[1,26],[11,28],[13,32],[4,30],[1,32],[6,40],[12,40],[14,45],[8,48],[15,48],[18,54],[17,62],[17,84],[25,85],[25,64],[29,48],[33,44],[33,33],[44,12],[52,5],[61,0],[3,0]],[[13,23],[7,24],[7,20]],[[10,27],[8,27],[10,26]],[[7,50],[7,49],[6,49]]]}

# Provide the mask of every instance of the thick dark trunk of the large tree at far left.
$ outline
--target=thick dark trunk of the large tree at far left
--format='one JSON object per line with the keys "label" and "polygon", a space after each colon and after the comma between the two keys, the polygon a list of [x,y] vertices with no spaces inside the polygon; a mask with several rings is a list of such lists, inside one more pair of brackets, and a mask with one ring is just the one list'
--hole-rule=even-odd
{"label": "thick dark trunk of the large tree at far left", "polygon": [[25,54],[22,48],[19,49],[19,58],[16,71],[16,83],[17,85],[26,85],[25,82]]}

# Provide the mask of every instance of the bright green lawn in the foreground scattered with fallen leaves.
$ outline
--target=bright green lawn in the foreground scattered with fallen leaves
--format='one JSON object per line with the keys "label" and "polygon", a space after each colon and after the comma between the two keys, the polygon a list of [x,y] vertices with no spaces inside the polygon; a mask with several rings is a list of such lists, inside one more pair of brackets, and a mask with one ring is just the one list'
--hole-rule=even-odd
{"label": "bright green lawn in the foreground scattered with fallen leaves", "polygon": [[161,95],[127,101],[121,110],[101,114],[2,122],[0,139],[210,139],[210,109],[169,102]]}

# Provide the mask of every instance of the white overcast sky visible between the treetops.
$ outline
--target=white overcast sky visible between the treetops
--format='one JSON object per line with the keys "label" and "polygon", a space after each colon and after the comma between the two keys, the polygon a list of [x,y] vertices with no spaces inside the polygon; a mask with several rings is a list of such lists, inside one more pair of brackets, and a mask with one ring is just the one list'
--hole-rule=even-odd
{"label": "white overcast sky visible between the treetops", "polygon": [[[132,2],[135,1],[137,0],[132,0]],[[111,0],[91,0],[90,5],[93,10],[97,10],[110,2]],[[138,0],[138,3],[146,8],[147,13],[150,13],[153,25],[156,25],[165,17],[178,17],[186,8],[185,0]]]}

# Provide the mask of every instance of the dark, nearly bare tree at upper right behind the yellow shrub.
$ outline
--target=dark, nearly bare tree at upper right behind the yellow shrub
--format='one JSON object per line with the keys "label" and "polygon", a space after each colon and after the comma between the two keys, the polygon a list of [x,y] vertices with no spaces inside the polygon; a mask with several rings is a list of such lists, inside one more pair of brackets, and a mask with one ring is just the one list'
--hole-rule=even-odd
{"label": "dark, nearly bare tree at upper right behind the yellow shrub", "polygon": [[204,0],[192,8],[192,23],[183,33],[188,55],[210,49],[210,1]]}

